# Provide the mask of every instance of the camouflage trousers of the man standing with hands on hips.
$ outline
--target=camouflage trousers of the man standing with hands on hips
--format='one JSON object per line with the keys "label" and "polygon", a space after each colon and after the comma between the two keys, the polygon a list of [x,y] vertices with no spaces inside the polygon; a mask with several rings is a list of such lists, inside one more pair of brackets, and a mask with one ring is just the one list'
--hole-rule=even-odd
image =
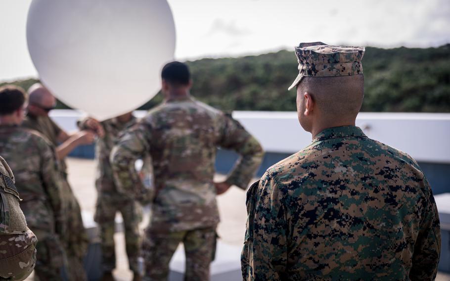
{"label": "camouflage trousers of the man standing with hands on hips", "polygon": [[185,281],[210,280],[210,263],[216,253],[216,228],[161,234],[145,230],[142,255],[146,281],[166,281],[169,262],[178,245],[183,243],[186,255]]}

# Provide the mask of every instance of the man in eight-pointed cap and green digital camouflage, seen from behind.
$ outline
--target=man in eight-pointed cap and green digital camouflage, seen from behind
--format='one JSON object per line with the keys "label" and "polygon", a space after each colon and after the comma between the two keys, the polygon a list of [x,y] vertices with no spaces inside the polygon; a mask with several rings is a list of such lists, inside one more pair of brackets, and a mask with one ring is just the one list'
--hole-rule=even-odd
{"label": "man in eight-pointed cap and green digital camouflage, seen from behind", "polygon": [[423,172],[355,126],[364,48],[295,51],[300,74],[290,89],[313,141],[250,187],[243,279],[434,280],[440,225]]}

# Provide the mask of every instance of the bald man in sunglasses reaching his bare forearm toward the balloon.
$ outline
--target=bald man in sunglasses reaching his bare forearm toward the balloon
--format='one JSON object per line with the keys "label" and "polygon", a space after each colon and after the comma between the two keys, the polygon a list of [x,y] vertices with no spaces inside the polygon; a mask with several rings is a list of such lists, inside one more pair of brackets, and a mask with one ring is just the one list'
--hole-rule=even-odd
{"label": "bald man in sunglasses reaching his bare forearm toward the balloon", "polygon": [[[47,89],[40,84],[33,85],[30,90],[28,114],[22,127],[36,130],[48,139],[55,150],[58,146],[66,147],[69,153],[79,144],[87,144],[88,132],[67,134],[48,116],[48,112],[55,107],[56,100]],[[93,138],[92,138],[93,140]],[[58,151],[57,151],[58,155]],[[62,237],[67,255],[66,273],[71,281],[87,280],[83,268],[83,258],[88,249],[88,236],[84,230],[81,208],[67,179],[67,165],[64,157],[58,157],[61,171],[62,195],[64,201],[63,216],[67,223],[67,234]]]}

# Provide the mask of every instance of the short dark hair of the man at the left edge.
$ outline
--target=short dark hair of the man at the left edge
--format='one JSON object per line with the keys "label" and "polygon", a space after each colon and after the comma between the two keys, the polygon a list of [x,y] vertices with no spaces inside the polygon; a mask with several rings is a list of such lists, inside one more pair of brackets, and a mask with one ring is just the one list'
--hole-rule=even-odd
{"label": "short dark hair of the man at the left edge", "polygon": [[9,115],[20,109],[27,99],[25,91],[17,86],[0,87],[0,116]]}

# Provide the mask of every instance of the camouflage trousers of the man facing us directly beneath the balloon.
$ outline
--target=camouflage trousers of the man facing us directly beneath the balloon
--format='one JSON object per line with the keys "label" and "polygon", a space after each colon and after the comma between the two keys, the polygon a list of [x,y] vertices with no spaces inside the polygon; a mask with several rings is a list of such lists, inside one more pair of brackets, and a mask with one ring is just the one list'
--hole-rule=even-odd
{"label": "camouflage trousers of the man facing us directly beneath the balloon", "polygon": [[102,269],[110,272],[116,268],[114,244],[114,219],[116,213],[122,214],[125,229],[125,244],[130,270],[138,273],[138,258],[140,257],[139,223],[142,221],[142,207],[139,203],[124,199],[117,194],[98,193],[94,220],[100,227]]}

